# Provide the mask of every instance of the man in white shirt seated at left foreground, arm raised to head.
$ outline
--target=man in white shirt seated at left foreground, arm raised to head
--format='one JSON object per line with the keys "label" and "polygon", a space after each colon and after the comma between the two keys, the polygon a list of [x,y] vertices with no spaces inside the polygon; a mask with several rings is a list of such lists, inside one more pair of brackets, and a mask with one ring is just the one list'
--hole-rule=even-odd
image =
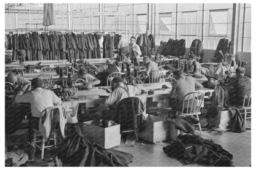
{"label": "man in white shirt seated at left foreground, arm raised to head", "polygon": [[[42,110],[47,107],[52,107],[55,105],[61,105],[62,100],[55,95],[55,93],[51,90],[42,89],[42,80],[39,78],[33,79],[31,81],[32,91],[28,93],[24,93],[24,91],[30,86],[30,84],[26,84],[22,90],[18,91],[17,96],[15,96],[16,102],[28,102],[31,106],[31,118],[30,118],[30,134],[32,132],[32,128],[38,129],[39,117],[41,115]],[[33,135],[30,135],[32,141]]]}

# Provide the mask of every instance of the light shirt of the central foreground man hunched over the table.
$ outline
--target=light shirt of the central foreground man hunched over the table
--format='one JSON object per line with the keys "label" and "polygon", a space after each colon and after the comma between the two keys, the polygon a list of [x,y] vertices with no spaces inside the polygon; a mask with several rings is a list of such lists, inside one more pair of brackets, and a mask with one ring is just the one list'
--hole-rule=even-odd
{"label": "light shirt of the central foreground man hunched over the table", "polygon": [[122,99],[135,97],[140,93],[142,93],[142,90],[138,87],[134,87],[133,85],[120,85],[111,92],[110,96],[106,98],[105,103],[108,106],[113,106],[114,104],[118,105],[118,102]]}

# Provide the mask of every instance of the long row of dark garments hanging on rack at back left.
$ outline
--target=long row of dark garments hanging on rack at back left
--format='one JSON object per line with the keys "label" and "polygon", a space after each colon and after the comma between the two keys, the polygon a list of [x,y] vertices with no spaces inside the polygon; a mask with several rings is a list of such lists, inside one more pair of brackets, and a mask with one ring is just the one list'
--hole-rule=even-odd
{"label": "long row of dark garments hanging on rack at back left", "polygon": [[19,60],[18,50],[25,50],[25,60],[74,60],[102,58],[100,34],[41,33],[6,35],[6,49],[12,47],[12,60]]}

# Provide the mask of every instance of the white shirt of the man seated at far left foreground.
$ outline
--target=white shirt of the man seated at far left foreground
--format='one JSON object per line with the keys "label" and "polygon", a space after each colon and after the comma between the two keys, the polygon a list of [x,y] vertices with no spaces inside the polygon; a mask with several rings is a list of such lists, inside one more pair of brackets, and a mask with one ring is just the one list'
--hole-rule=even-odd
{"label": "white shirt of the man seated at far left foreground", "polygon": [[52,107],[54,104],[62,104],[62,99],[55,95],[54,91],[36,88],[34,91],[17,95],[16,102],[29,102],[33,117],[40,117],[42,110]]}

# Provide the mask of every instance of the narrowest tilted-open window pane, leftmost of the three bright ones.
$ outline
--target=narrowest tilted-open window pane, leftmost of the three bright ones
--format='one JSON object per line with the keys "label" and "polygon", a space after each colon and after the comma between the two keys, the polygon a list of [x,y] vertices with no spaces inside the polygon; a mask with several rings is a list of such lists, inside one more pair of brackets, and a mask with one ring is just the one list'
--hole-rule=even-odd
{"label": "narrowest tilted-open window pane, leftmost of the three bright ones", "polygon": [[172,13],[159,14],[159,35],[171,35]]}

